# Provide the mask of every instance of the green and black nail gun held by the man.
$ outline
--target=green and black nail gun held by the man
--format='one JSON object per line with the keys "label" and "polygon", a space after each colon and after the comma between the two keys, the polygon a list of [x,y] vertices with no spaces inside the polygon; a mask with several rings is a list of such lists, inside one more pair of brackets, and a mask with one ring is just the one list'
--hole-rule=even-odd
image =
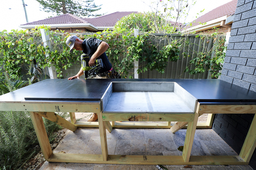
{"label": "green and black nail gun held by the man", "polygon": [[96,65],[92,67],[89,66],[89,60],[90,58],[87,54],[81,55],[81,65],[82,65],[82,70],[84,71],[85,79],[91,75],[95,76],[97,71],[103,68],[102,59],[96,59],[95,61]]}

